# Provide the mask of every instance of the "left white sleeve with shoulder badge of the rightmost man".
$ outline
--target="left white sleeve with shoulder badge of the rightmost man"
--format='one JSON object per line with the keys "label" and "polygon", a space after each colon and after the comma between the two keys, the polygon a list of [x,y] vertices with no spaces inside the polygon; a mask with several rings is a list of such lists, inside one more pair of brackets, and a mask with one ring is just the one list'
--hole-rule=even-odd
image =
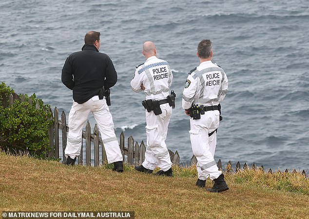
{"label": "left white sleeve with shoulder badge of the rightmost man", "polygon": [[[194,73],[193,73],[194,74]],[[185,84],[185,88],[182,92],[182,108],[189,109],[192,106],[194,96],[198,90],[199,84],[198,77],[193,79],[192,75],[189,75]]]}

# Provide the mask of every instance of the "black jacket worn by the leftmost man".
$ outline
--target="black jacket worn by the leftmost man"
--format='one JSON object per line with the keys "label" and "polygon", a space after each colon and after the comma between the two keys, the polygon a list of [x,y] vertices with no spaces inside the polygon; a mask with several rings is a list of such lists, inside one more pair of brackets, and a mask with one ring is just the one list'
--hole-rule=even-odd
{"label": "black jacket worn by the leftmost man", "polygon": [[102,86],[108,89],[117,82],[117,73],[108,55],[94,45],[84,45],[72,53],[62,68],[62,83],[73,90],[73,100],[83,103],[96,96]]}

